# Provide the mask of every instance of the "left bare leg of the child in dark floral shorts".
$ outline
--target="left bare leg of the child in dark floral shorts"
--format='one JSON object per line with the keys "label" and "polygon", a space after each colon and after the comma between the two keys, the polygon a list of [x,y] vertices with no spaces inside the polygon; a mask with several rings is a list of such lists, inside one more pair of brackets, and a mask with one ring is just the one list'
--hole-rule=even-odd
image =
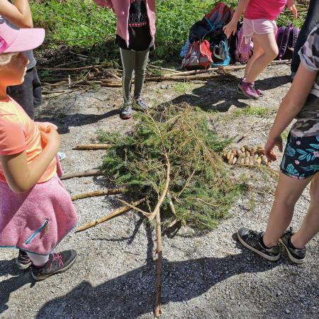
{"label": "left bare leg of the child in dark floral shorts", "polygon": [[267,247],[278,245],[279,238],[291,223],[293,210],[310,179],[293,179],[279,174],[276,195],[263,241]]}

